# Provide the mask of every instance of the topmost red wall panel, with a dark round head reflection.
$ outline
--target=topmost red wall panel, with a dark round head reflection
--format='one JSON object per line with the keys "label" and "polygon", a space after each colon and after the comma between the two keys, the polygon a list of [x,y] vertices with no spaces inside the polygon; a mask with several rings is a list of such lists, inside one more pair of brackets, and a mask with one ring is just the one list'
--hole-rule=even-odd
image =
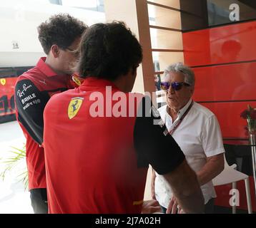
{"label": "topmost red wall panel, with a dark round head reflection", "polygon": [[256,21],[183,33],[184,63],[202,66],[256,59]]}

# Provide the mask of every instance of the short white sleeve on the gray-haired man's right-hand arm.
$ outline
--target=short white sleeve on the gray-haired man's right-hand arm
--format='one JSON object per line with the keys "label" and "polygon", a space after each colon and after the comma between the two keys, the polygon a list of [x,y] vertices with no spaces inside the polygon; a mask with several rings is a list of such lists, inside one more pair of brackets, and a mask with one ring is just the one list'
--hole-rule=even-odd
{"label": "short white sleeve on the gray-haired man's right-hand arm", "polygon": [[220,125],[215,115],[206,120],[205,128],[202,129],[202,147],[207,157],[225,152]]}

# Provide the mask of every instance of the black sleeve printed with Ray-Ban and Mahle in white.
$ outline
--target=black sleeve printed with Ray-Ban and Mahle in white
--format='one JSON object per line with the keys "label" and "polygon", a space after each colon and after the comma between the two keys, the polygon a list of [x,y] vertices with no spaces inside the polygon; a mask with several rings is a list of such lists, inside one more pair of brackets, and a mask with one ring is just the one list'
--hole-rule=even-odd
{"label": "black sleeve printed with Ray-Ban and Mahle in white", "polygon": [[43,142],[43,112],[48,100],[30,80],[16,83],[15,104],[18,120],[39,145]]}

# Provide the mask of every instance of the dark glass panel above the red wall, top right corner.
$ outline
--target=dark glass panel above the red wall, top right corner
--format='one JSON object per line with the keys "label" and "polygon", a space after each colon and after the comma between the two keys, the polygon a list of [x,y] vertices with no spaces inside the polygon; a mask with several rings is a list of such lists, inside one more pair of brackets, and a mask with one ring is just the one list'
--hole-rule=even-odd
{"label": "dark glass panel above the red wall, top right corner", "polygon": [[180,0],[182,30],[194,30],[256,19],[255,0]]}

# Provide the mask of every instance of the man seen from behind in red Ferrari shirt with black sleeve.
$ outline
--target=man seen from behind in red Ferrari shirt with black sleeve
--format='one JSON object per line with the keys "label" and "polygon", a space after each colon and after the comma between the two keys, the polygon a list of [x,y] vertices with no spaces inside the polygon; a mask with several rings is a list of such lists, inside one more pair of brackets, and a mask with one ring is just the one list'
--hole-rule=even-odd
{"label": "man seen from behind in red Ferrari shirt with black sleeve", "polygon": [[157,110],[129,93],[142,61],[132,32],[118,22],[96,24],[79,53],[84,82],[54,95],[44,110],[49,213],[140,213],[149,164],[184,212],[203,212],[195,172]]}

